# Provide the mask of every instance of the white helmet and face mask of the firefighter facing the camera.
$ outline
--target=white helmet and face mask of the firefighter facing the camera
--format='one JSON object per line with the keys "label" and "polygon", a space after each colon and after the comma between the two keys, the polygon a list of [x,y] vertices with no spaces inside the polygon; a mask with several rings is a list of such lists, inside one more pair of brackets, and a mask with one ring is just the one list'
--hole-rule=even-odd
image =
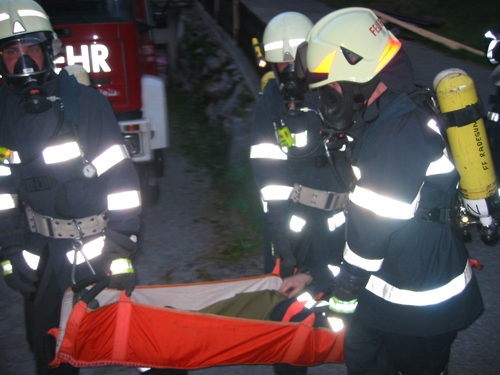
{"label": "white helmet and face mask of the firefighter facing the camera", "polygon": [[[26,46],[40,46],[41,63],[25,53]],[[42,84],[53,66],[52,59],[60,52],[49,17],[32,0],[0,0],[0,72],[4,81],[22,89],[29,80]],[[16,58],[16,54],[18,58]],[[14,61],[10,66],[7,59]],[[40,66],[42,64],[42,66]]]}

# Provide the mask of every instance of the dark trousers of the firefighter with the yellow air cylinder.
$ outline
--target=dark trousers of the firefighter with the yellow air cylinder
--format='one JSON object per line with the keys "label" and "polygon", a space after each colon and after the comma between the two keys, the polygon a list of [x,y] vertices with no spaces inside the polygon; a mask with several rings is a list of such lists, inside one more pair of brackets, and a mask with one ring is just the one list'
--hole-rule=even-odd
{"label": "dark trousers of the firefighter with the yellow air cylinder", "polygon": [[352,322],[344,355],[349,375],[445,374],[457,333],[416,337],[383,332]]}

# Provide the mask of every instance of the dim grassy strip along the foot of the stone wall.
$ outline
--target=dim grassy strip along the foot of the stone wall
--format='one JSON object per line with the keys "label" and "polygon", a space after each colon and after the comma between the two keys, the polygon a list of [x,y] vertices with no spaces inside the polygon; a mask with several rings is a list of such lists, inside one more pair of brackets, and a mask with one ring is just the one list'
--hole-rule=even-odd
{"label": "dim grassy strip along the foot of the stone wall", "polygon": [[[201,215],[214,225],[222,239],[217,258],[231,264],[262,251],[261,203],[248,157],[241,158],[239,163],[230,163],[227,133],[222,124],[209,125],[205,84],[199,82],[192,91],[169,89],[169,116],[173,136],[182,153],[195,167],[210,174],[212,204],[209,212]],[[238,99],[253,103],[245,94]],[[241,153],[248,155],[248,149]]]}

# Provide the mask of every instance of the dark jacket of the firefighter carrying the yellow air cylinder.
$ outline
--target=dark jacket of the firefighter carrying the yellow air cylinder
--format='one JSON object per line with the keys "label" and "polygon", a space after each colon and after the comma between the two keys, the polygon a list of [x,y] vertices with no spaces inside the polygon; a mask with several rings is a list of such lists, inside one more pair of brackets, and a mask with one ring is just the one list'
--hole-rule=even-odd
{"label": "dark jacket of the firefighter carrying the yellow air cylinder", "polygon": [[[459,176],[429,111],[387,90],[356,118],[344,260],[370,273],[355,320],[384,331],[438,335],[470,324],[481,295],[451,207]],[[367,124],[363,118],[374,118]],[[442,214],[424,220],[432,209]]]}

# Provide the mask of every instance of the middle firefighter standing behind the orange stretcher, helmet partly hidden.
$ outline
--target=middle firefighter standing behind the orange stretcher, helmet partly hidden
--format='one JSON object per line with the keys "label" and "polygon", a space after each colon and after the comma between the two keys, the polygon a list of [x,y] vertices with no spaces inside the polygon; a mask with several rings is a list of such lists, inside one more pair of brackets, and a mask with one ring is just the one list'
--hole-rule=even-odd
{"label": "middle firefighter standing behind the orange stretcher, helmet partly hidden", "polygon": [[[292,298],[306,285],[316,293],[333,282],[328,265],[340,265],[344,248],[344,213],[350,164],[344,137],[323,127],[318,94],[294,74],[297,46],[312,22],[297,12],[278,14],[263,35],[265,59],[274,79],[259,98],[251,131],[250,158],[260,190],[266,239],[279,259],[281,291]],[[288,278],[297,272],[294,278]],[[307,369],[277,365],[276,374]]]}

